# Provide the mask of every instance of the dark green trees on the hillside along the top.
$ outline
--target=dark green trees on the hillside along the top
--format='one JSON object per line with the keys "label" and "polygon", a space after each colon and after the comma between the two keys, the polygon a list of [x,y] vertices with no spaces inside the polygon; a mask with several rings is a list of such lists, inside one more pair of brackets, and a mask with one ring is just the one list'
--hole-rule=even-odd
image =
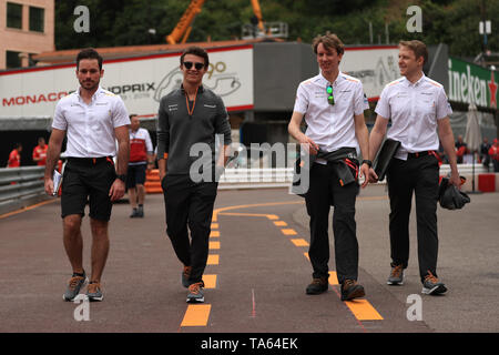
{"label": "dark green trees on the hillside along the top", "polygon": [[[55,0],[57,49],[165,43],[189,0]],[[450,54],[475,57],[481,51],[479,0],[259,0],[264,20],[288,23],[288,40],[312,42],[318,33],[337,33],[345,44],[386,43],[420,39],[427,44],[449,44]],[[499,51],[499,0],[487,0],[487,18],[492,21],[488,48]],[[90,9],[90,33],[75,33],[77,6]],[[406,9],[422,9],[422,32],[409,33]],[[249,0],[206,0],[196,17],[189,41],[241,38],[241,28],[254,16]],[[156,34],[149,33],[155,29]]]}

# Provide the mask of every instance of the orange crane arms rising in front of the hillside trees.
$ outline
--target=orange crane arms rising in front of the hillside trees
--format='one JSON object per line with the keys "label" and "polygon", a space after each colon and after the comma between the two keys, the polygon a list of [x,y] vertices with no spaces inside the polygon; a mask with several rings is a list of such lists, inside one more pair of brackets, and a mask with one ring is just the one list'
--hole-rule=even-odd
{"label": "orange crane arms rising in front of the hillside trees", "polygon": [[[192,31],[192,22],[195,17],[201,12],[201,8],[203,7],[205,0],[192,0],[189,4],[189,8],[185,10],[184,14],[180,19],[179,23],[176,23],[172,33],[166,36],[166,42],[170,44],[185,43],[187,41],[189,34]],[[255,13],[256,19],[258,20],[258,29],[262,32],[265,32],[265,27],[263,23],[262,10],[259,8],[258,0],[252,0],[253,12]]]}

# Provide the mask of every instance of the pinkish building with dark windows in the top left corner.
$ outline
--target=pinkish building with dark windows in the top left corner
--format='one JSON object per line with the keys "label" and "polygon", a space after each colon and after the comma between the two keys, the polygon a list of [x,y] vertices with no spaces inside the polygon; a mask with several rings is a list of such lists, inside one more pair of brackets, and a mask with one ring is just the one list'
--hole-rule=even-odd
{"label": "pinkish building with dark windows in the top left corner", "polygon": [[0,0],[0,70],[29,67],[53,51],[54,0]]}

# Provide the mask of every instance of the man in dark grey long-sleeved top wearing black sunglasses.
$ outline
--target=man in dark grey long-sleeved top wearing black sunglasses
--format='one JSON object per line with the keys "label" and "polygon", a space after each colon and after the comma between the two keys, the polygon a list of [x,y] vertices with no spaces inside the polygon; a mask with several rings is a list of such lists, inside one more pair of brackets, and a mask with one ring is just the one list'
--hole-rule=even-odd
{"label": "man in dark grey long-sleeved top wearing black sunglasses", "polygon": [[[189,287],[187,302],[204,302],[202,277],[208,255],[217,178],[227,160],[225,151],[231,144],[231,126],[222,99],[202,85],[210,63],[206,51],[190,47],[180,61],[182,87],[162,98],[160,103],[157,165],[166,233],[184,265],[182,284]],[[223,136],[224,145],[218,149],[218,156],[215,154],[217,134]]]}

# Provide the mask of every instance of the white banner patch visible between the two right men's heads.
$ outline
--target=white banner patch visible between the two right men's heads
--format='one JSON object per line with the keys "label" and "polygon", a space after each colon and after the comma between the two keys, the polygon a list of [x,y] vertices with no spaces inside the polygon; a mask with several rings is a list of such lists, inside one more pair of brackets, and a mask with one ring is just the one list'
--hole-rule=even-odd
{"label": "white banner patch visible between the two right men's heads", "polygon": [[369,100],[377,100],[386,84],[400,78],[398,47],[350,47],[345,48],[339,70],[360,79],[364,93]]}

